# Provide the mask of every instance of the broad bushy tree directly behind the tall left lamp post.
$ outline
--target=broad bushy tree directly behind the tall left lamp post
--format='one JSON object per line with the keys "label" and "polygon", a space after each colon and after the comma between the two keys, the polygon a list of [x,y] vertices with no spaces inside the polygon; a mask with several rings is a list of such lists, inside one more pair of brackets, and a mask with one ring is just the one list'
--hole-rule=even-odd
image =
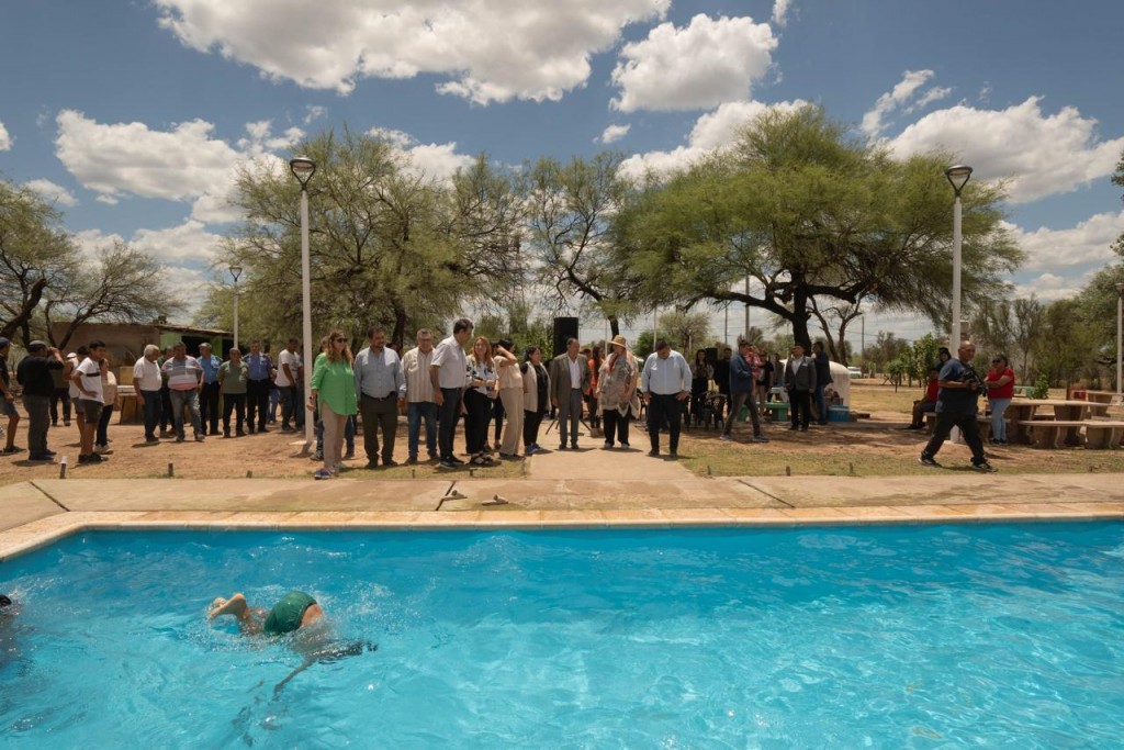
{"label": "broad bushy tree directly behind the tall left lamp post", "polygon": [[[314,328],[353,338],[382,323],[391,341],[452,317],[469,299],[493,299],[520,266],[518,197],[510,174],[481,155],[451,182],[419,173],[384,139],[344,129],[300,144],[317,163],[309,182]],[[242,171],[235,204],[245,223],[224,249],[246,270],[242,309],[251,336],[299,329],[300,187],[277,162]],[[205,316],[227,309],[214,288]]]}

